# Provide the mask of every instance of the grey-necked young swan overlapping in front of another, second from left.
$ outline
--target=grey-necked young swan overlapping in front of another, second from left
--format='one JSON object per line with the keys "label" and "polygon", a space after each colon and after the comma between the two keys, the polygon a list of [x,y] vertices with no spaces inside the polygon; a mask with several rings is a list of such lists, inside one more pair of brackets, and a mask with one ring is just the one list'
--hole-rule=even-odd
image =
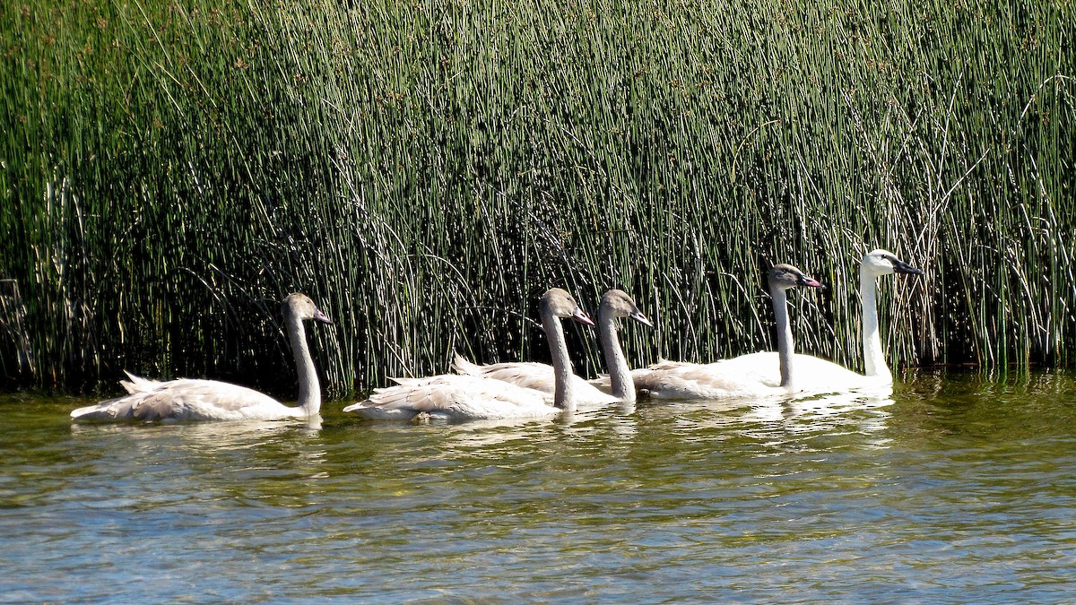
{"label": "grey-necked young swan overlapping in front of another, second from left", "polygon": [[533,389],[490,378],[444,374],[402,379],[396,386],[374,389],[368,399],[350,405],[343,411],[379,420],[408,420],[425,412],[450,421],[541,418],[575,411],[571,360],[561,319],[571,318],[589,325],[594,325],[594,322],[570,294],[558,287],[542,295],[539,313],[553,357],[555,388],[552,405],[548,394]]}

